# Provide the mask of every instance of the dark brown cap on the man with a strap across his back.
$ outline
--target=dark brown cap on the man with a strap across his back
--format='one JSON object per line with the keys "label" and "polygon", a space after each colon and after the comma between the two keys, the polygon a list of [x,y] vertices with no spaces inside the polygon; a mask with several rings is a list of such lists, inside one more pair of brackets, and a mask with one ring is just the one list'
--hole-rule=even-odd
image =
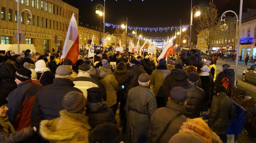
{"label": "dark brown cap on the man with a strap across his back", "polygon": [[184,102],[187,100],[187,92],[182,87],[173,87],[169,93],[170,98],[172,101],[176,102]]}

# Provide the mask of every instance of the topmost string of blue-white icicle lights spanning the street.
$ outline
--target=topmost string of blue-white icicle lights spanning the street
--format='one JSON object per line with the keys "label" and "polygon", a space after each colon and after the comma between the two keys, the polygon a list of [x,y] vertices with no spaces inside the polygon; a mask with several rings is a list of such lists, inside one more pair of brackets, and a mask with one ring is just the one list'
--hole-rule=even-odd
{"label": "topmost string of blue-white icicle lights spanning the street", "polygon": [[[105,26],[107,27],[112,27],[112,28],[120,28],[121,25],[117,25],[117,24],[111,24],[111,23],[107,23],[105,22]],[[160,31],[160,32],[167,32],[169,30],[173,31],[174,29],[177,31],[177,30],[180,30],[180,26],[172,26],[172,27],[133,27],[133,26],[127,26],[127,28],[129,30],[139,30],[139,31]],[[186,28],[188,29],[189,28],[189,25],[182,25],[181,26],[181,29],[183,28]]]}

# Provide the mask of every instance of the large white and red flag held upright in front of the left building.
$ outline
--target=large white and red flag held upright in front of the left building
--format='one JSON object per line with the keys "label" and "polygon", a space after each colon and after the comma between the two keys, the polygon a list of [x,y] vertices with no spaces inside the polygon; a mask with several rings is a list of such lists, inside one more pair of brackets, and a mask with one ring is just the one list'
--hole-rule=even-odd
{"label": "large white and red flag held upright in front of the left building", "polygon": [[70,19],[69,29],[62,50],[62,60],[60,61],[62,62],[64,59],[69,59],[73,64],[76,63],[79,54],[78,27],[74,14],[75,13],[72,14]]}

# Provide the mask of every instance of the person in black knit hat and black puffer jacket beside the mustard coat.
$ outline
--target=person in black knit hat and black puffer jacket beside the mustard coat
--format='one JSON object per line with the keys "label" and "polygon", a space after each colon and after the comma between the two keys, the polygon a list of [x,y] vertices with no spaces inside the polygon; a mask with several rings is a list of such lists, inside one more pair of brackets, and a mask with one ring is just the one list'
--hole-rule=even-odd
{"label": "person in black knit hat and black puffer jacket beside the mustard coat", "polygon": [[92,87],[87,89],[87,110],[86,115],[89,117],[88,122],[92,129],[99,124],[114,123],[117,124],[115,115],[108,107],[106,101],[102,100],[100,88]]}

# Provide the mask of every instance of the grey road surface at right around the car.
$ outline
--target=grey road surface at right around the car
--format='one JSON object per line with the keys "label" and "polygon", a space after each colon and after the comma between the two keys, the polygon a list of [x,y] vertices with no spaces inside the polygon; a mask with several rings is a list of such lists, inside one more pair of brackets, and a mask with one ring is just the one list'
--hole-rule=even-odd
{"label": "grey road surface at right around the car", "polygon": [[[217,63],[216,63],[217,74],[222,72],[222,65],[224,65],[224,64],[229,64],[230,69],[235,69],[235,66],[236,66],[236,62],[226,62],[222,59],[218,59]],[[252,83],[252,82],[248,82],[248,81],[246,81],[246,82],[242,81],[243,71],[251,65],[253,65],[253,63],[248,63],[247,66],[246,66],[244,62],[238,62],[238,66],[237,66],[238,86],[242,86],[242,88],[248,89],[252,92],[256,92],[256,83]]]}

